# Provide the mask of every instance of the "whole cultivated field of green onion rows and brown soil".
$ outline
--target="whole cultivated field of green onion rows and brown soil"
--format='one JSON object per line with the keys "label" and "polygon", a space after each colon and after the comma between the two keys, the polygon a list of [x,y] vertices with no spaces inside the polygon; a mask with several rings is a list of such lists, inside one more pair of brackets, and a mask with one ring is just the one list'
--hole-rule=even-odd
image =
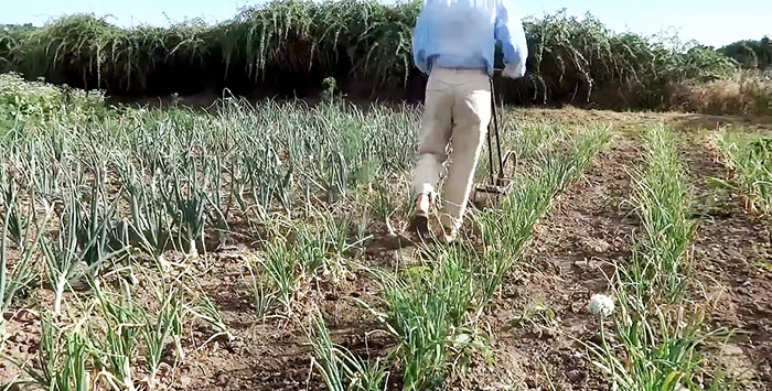
{"label": "whole cultivated field of green onion rows and brown soil", "polygon": [[772,389],[770,122],[506,109],[514,191],[440,246],[420,108],[0,87],[0,383]]}

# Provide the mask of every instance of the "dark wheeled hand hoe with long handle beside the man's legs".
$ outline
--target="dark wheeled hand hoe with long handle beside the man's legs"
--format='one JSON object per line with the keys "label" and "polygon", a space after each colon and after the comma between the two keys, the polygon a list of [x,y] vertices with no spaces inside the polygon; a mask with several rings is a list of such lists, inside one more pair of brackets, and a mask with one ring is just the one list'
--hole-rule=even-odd
{"label": "dark wheeled hand hoe with long handle beside the man's legs", "polygon": [[[496,69],[497,70],[497,69]],[[510,159],[517,159],[514,151],[507,151],[502,159],[501,140],[498,139],[498,116],[496,110],[496,95],[493,89],[493,77],[491,77],[491,123],[487,127],[487,159],[490,183],[476,184],[472,189],[472,203],[479,207],[498,205],[512,188],[513,178],[504,176],[504,166]],[[491,129],[493,124],[493,129]],[[491,145],[491,133],[496,139],[496,158],[498,163],[498,173],[493,170],[493,146]]]}

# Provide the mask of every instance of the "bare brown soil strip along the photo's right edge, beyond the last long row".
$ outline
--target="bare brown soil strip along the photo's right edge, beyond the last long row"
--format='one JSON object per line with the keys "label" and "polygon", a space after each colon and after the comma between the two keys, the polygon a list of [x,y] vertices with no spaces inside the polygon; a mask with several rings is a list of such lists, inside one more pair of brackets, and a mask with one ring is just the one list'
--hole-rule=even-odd
{"label": "bare brown soil strip along the photo's right edge, beyond the last long row", "polygon": [[706,149],[703,138],[685,148],[703,222],[695,238],[694,261],[698,279],[717,307],[715,327],[742,332],[725,347],[725,363],[743,389],[772,389],[772,224],[748,215],[740,194],[716,192],[706,180],[729,178],[727,169]]}

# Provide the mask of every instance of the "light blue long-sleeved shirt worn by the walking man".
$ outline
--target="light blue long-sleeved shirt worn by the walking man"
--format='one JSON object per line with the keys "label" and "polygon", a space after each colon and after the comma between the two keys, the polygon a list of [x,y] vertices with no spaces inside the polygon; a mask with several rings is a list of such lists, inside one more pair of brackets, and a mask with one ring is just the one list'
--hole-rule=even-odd
{"label": "light blue long-sleeved shirt worn by the walking man", "polygon": [[412,35],[412,59],[432,66],[480,68],[493,75],[496,41],[504,64],[525,74],[528,45],[514,0],[423,0]]}

